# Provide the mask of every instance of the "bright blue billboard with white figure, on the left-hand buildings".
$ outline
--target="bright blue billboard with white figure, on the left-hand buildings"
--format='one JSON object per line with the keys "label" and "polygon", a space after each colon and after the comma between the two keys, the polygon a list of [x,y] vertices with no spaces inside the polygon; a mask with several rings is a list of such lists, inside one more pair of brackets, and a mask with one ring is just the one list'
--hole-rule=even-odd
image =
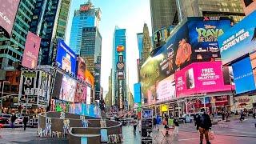
{"label": "bright blue billboard with white figure, on the left-hand buildings", "polygon": [[62,39],[58,39],[58,48],[56,62],[59,68],[68,71],[70,74],[76,74],[76,59],[74,51]]}

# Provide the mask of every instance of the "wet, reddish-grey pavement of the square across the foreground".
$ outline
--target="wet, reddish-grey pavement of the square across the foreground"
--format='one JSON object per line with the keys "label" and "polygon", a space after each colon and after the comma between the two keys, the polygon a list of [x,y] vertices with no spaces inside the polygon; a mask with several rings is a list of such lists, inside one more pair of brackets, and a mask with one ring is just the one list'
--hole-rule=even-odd
{"label": "wet, reddish-grey pavement of the square across the foreground", "polygon": [[[222,124],[214,125],[212,130],[214,131],[215,136],[214,140],[211,140],[210,142],[216,144],[254,144],[256,141],[256,128],[253,124],[255,122],[256,120],[252,118],[248,118],[242,123],[238,123],[236,119],[232,119],[231,122],[226,122],[228,127],[223,127]],[[193,123],[181,124],[177,137],[170,135],[169,137],[164,138],[163,134],[165,134],[165,129],[162,125],[159,125],[159,128],[159,131],[154,130],[154,143],[199,143],[199,134],[195,130]],[[37,129],[31,128],[26,131],[22,128],[16,128],[15,130],[5,128],[1,132],[0,143],[68,143],[66,139],[38,138],[36,136],[36,131]],[[172,130],[170,130],[170,133],[171,132]],[[134,134],[133,126],[123,126],[122,134],[124,137],[124,144],[141,143],[140,133],[137,131],[137,133]],[[166,139],[168,142],[166,142]]]}

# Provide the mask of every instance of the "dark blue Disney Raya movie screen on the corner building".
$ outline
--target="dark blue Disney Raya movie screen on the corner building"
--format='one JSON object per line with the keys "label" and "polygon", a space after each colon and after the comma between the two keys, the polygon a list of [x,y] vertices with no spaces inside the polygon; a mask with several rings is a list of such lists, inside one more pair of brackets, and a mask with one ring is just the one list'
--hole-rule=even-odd
{"label": "dark blue Disney Raya movie screen on the corner building", "polygon": [[190,21],[190,44],[193,47],[193,60],[220,58],[218,36],[230,28],[230,20]]}

